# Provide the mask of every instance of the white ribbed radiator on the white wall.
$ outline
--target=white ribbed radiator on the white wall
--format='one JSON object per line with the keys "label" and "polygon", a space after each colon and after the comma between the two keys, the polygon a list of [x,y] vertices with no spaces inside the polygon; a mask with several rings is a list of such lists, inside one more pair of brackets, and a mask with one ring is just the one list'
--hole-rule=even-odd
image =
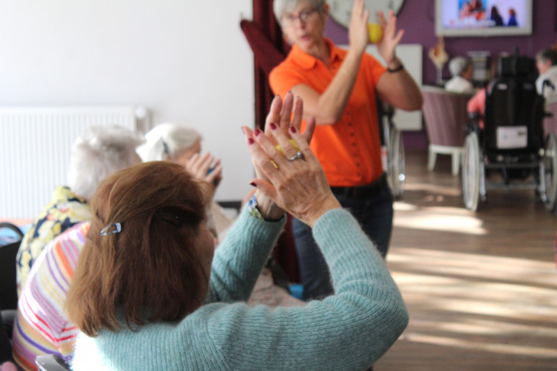
{"label": "white ribbed radiator on the white wall", "polygon": [[74,140],[91,125],[136,131],[134,106],[0,106],[0,221],[34,219],[66,184]]}

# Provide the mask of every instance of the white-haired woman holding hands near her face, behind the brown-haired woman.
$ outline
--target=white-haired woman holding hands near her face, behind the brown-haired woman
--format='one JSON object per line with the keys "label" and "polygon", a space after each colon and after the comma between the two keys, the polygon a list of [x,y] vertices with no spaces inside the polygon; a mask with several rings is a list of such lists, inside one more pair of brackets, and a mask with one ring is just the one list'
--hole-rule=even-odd
{"label": "white-haired woman holding hands near her face, behind the brown-haired woman", "polygon": [[207,223],[214,237],[219,239],[232,223],[221,207],[213,202],[214,191],[222,180],[222,164],[211,152],[201,155],[201,134],[191,127],[175,123],[164,123],[153,127],[145,134],[146,143],[136,152],[144,162],[172,161],[185,166],[198,180],[202,180]]}

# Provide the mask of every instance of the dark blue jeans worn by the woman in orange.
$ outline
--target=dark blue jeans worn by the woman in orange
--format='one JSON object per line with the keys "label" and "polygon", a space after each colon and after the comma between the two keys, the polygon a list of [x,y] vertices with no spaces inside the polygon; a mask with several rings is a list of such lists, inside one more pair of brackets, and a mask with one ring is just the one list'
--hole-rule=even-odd
{"label": "dark blue jeans worn by the woman in orange", "polygon": [[[377,246],[385,258],[393,230],[393,194],[389,186],[379,195],[361,199],[333,192],[343,208],[359,221],[363,232]],[[319,299],[334,293],[331,274],[320,248],[315,243],[311,228],[298,219],[292,219],[292,230],[304,285],[304,300]]]}

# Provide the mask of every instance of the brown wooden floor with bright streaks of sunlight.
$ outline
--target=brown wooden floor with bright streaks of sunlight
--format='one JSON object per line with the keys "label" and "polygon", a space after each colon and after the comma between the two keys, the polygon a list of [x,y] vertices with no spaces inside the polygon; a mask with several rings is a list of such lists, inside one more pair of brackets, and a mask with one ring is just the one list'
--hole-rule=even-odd
{"label": "brown wooden floor with bright streaks of sunlight", "polygon": [[410,323],[374,371],[557,370],[557,216],[534,191],[469,212],[450,157],[406,154],[387,264]]}

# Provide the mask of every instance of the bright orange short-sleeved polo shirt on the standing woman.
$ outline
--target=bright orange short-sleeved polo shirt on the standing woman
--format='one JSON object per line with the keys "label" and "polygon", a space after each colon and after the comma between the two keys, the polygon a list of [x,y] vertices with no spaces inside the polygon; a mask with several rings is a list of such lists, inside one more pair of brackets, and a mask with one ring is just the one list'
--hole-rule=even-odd
{"label": "bright orange short-sleeved polo shirt on the standing woman", "polygon": [[[283,98],[293,86],[305,84],[322,94],[342,65],[347,51],[325,39],[331,50],[330,69],[292,47],[286,59],[269,74],[269,84]],[[363,54],[358,77],[343,116],[334,125],[317,125],[311,149],[321,162],[332,187],[369,184],[383,174],[381,140],[377,122],[375,86],[385,68]],[[304,130],[306,122],[302,123]]]}

